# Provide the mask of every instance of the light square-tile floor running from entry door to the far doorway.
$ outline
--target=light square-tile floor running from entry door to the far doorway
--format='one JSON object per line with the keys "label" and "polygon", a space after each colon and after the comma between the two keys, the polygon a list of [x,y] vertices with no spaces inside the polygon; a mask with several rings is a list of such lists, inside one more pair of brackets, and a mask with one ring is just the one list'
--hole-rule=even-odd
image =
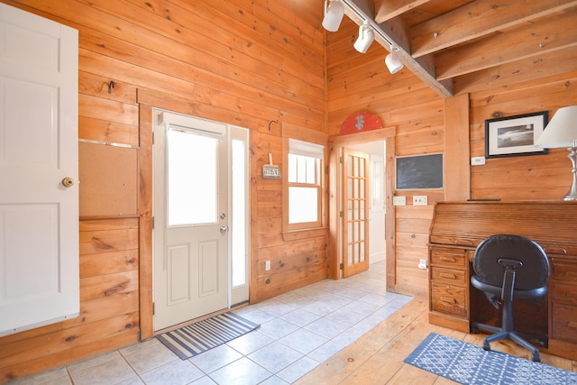
{"label": "light square-tile floor running from entry door to the far doorway", "polygon": [[385,262],[234,312],[261,326],[180,360],[151,338],[17,384],[289,384],[353,343],[412,298],[387,292]]}

